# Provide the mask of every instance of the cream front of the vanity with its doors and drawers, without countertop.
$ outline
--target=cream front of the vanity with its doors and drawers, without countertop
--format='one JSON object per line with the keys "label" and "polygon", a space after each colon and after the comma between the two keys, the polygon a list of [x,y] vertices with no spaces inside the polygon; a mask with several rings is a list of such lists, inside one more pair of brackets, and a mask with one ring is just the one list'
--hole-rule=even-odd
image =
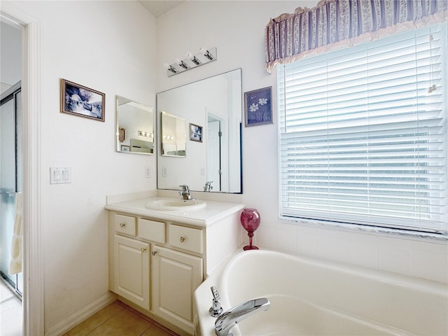
{"label": "cream front of the vanity with its doors and drawers, without countertop", "polygon": [[204,253],[205,228],[109,211],[109,289],[186,335]]}

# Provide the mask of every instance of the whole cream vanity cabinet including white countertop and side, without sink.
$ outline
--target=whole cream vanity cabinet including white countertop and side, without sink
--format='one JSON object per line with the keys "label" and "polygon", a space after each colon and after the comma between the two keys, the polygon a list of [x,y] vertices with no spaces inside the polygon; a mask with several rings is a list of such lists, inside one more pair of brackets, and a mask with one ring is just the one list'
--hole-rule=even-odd
{"label": "whole cream vanity cabinet including white countertop and side, without sink", "polygon": [[241,247],[244,204],[207,200],[207,207],[195,211],[146,207],[161,198],[106,205],[109,289],[142,314],[190,336],[195,289]]}

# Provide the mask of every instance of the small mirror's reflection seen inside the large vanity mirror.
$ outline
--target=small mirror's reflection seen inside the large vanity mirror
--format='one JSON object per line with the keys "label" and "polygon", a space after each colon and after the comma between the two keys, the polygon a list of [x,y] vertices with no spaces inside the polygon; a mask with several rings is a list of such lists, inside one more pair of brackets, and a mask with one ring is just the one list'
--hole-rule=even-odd
{"label": "small mirror's reflection seen inside the large vanity mirror", "polygon": [[186,125],[185,119],[161,112],[162,122],[162,155],[186,157]]}

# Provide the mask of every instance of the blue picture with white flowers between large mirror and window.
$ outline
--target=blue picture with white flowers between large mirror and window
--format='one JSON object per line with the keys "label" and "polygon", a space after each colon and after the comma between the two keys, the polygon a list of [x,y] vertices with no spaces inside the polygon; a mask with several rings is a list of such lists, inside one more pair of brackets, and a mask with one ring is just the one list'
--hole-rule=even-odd
{"label": "blue picture with white flowers between large mirror and window", "polygon": [[244,93],[246,127],[272,124],[272,86]]}

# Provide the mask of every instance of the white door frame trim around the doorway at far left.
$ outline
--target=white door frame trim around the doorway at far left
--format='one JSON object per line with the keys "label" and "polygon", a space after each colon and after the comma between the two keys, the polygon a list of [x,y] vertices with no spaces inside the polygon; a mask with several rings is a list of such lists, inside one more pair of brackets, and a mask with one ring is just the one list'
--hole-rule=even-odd
{"label": "white door frame trim around the doorway at far left", "polygon": [[2,20],[22,27],[23,335],[44,335],[40,206],[41,24],[2,1]]}

